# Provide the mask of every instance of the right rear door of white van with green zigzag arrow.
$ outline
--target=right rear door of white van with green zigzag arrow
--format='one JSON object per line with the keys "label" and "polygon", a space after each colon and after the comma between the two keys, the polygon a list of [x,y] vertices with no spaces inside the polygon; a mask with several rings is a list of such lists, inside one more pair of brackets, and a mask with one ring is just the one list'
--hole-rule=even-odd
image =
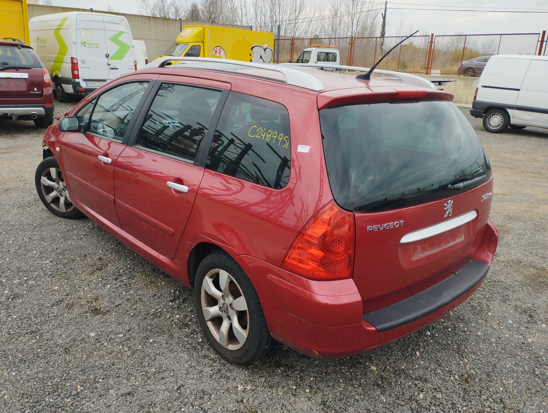
{"label": "right rear door of white van with green zigzag arrow", "polygon": [[106,48],[109,54],[109,79],[135,70],[133,38],[127,20],[118,16],[104,16]]}

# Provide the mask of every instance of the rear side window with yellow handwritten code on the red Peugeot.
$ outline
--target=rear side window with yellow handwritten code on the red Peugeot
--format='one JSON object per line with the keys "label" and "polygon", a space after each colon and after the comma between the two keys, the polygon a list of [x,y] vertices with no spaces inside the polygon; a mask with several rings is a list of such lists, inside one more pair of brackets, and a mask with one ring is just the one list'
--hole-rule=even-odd
{"label": "rear side window with yellow handwritten code on the red Peugeot", "polygon": [[206,167],[248,182],[282,189],[289,181],[290,160],[289,114],[285,106],[230,92]]}

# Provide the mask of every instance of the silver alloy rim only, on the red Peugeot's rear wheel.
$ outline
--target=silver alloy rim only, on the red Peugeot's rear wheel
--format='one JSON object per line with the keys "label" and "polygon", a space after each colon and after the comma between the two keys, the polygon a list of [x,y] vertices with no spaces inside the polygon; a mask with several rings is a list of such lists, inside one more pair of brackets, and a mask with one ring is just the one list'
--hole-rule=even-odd
{"label": "silver alloy rim only, on the red Peugeot's rear wheel", "polygon": [[241,348],[247,340],[249,323],[246,298],[225,270],[215,268],[202,281],[202,311],[209,331],[222,347]]}

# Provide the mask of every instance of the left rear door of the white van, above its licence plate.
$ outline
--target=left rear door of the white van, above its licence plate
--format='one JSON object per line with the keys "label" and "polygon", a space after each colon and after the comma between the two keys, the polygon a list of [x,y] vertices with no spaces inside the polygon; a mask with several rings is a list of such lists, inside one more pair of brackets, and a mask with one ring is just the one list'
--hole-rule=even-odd
{"label": "left rear door of the white van, above its licence plate", "polygon": [[105,24],[102,15],[78,14],[76,19],[76,57],[83,87],[99,87],[109,80]]}

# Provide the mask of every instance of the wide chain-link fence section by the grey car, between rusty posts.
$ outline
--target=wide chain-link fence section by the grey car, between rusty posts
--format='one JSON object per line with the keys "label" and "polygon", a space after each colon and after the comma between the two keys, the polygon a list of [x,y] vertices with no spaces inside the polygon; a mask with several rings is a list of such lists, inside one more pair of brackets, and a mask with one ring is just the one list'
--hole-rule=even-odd
{"label": "wide chain-link fence section by the grey car, between rusty posts", "polygon": [[534,55],[540,41],[540,33],[435,36],[430,72],[477,75],[483,68],[474,59],[495,54]]}

